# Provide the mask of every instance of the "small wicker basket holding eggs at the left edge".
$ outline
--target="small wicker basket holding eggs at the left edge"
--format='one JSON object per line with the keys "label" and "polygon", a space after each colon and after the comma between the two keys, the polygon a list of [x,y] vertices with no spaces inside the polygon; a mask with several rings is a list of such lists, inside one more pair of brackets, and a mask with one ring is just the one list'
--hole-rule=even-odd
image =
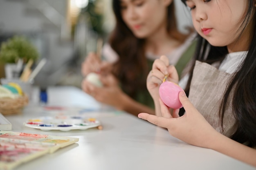
{"label": "small wicker basket holding eggs at the left edge", "polygon": [[0,113],[2,115],[12,115],[22,112],[24,106],[29,102],[27,95],[23,95],[16,99],[0,98]]}

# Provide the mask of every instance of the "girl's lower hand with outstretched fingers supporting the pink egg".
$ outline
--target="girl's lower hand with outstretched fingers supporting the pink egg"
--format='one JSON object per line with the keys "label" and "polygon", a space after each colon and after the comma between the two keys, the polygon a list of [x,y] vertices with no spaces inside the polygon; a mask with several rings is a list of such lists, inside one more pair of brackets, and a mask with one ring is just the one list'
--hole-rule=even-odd
{"label": "girl's lower hand with outstretched fingers supporting the pink egg", "polygon": [[173,110],[171,114],[169,108],[161,101],[161,112],[163,117],[140,113],[139,118],[145,119],[152,124],[168,129],[168,132],[178,139],[188,144],[211,148],[213,146],[214,137],[220,135],[191,104],[184,92],[179,94],[186,113],[178,116],[179,109]]}

